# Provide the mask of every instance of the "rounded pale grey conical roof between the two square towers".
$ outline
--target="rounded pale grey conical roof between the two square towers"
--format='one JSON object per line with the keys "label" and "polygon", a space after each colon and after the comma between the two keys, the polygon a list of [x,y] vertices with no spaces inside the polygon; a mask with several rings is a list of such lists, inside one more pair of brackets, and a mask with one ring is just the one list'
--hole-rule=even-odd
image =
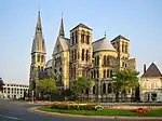
{"label": "rounded pale grey conical roof between the two square towers", "polygon": [[114,51],[116,49],[112,46],[109,40],[106,37],[96,40],[93,42],[93,52],[96,51]]}

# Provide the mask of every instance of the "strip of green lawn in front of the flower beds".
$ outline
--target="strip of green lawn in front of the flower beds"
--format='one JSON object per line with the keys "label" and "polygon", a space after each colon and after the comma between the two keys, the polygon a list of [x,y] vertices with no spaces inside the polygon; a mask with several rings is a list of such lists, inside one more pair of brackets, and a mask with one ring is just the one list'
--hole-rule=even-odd
{"label": "strip of green lawn in front of the flower beds", "polygon": [[162,117],[162,109],[151,109],[147,113],[133,112],[132,110],[124,109],[104,109],[95,110],[66,110],[66,109],[52,109],[46,106],[39,107],[40,110],[70,115],[84,115],[84,116],[126,116],[126,117]]}

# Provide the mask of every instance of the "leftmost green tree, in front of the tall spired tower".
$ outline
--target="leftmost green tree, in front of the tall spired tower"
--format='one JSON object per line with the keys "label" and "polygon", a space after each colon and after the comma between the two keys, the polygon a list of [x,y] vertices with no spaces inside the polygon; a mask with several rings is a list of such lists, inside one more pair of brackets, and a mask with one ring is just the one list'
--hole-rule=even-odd
{"label": "leftmost green tree, in front of the tall spired tower", "polygon": [[56,81],[52,77],[41,79],[37,84],[37,89],[39,92],[42,92],[43,95],[49,95],[51,100],[51,95],[56,92]]}

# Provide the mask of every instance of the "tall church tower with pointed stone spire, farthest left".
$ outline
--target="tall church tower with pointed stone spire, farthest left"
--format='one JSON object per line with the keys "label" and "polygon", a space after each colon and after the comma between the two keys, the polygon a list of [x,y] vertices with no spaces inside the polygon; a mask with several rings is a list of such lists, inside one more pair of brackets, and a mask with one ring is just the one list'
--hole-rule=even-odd
{"label": "tall church tower with pointed stone spire, farthest left", "polygon": [[33,90],[38,78],[39,70],[43,70],[45,68],[45,43],[42,35],[42,26],[41,26],[41,17],[40,11],[38,12],[38,19],[36,26],[36,33],[32,41],[31,48],[31,65],[30,65],[30,79],[29,79],[29,89]]}

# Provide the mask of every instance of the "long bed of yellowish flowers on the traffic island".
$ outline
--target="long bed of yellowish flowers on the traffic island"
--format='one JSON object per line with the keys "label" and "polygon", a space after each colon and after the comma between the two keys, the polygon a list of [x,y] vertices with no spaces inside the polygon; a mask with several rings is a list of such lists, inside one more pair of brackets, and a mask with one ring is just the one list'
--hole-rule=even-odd
{"label": "long bed of yellowish flowers on the traffic island", "polygon": [[102,110],[103,107],[94,103],[75,103],[75,102],[55,102],[49,104],[48,107],[55,109],[72,109],[72,110]]}

